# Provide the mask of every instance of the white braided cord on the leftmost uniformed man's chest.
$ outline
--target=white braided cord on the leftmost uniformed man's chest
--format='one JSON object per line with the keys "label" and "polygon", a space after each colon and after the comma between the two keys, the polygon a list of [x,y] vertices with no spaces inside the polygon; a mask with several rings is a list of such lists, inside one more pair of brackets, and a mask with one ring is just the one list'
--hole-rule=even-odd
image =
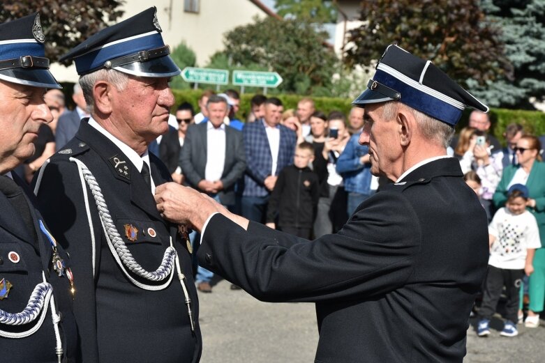
{"label": "white braided cord on the leftmost uniformed man's chest", "polygon": [[24,325],[32,323],[38,315],[40,315],[40,320],[38,323],[31,329],[26,332],[12,333],[5,332],[0,330],[0,337],[4,338],[24,338],[36,332],[40,329],[43,320],[45,318],[45,311],[47,311],[47,306],[49,306],[51,300],[51,293],[53,289],[52,286],[47,282],[40,282],[36,285],[32,291],[27,307],[23,309],[20,313],[12,314],[0,309],[0,323],[6,325]]}

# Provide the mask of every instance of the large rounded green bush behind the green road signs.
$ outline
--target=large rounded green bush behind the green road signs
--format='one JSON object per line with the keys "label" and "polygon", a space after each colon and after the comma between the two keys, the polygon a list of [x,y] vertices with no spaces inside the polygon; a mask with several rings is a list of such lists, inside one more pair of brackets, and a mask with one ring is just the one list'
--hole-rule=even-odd
{"label": "large rounded green bush behind the green road signs", "polygon": [[330,88],[338,65],[325,37],[301,20],[267,17],[227,32],[221,53],[234,67],[278,72],[279,91],[311,94],[314,88]]}

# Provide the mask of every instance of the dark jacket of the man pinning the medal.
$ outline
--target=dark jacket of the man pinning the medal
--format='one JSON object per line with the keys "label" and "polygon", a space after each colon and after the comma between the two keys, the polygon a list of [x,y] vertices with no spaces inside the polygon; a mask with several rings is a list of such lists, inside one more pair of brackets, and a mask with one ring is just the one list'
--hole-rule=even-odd
{"label": "dark jacket of the man pinning the medal", "polygon": [[462,362],[488,263],[486,213],[458,161],[441,159],[313,242],[214,215],[198,256],[260,300],[315,302],[315,362]]}

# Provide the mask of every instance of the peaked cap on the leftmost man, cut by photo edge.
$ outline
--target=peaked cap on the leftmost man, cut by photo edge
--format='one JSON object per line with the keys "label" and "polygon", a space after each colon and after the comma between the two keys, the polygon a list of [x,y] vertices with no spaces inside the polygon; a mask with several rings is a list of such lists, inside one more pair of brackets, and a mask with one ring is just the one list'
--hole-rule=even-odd
{"label": "peaked cap on the leftmost man, cut by photo edge", "polygon": [[0,24],[0,79],[25,86],[62,88],[49,71],[40,14]]}

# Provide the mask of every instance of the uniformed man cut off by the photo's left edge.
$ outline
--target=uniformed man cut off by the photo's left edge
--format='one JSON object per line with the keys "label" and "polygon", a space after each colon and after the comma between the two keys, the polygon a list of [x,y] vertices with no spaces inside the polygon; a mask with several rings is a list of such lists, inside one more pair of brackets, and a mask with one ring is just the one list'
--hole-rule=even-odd
{"label": "uniformed man cut off by the photo's left edge", "polygon": [[53,116],[47,88],[61,88],[44,58],[40,15],[0,24],[0,361],[73,362],[73,274],[13,169],[34,153]]}

